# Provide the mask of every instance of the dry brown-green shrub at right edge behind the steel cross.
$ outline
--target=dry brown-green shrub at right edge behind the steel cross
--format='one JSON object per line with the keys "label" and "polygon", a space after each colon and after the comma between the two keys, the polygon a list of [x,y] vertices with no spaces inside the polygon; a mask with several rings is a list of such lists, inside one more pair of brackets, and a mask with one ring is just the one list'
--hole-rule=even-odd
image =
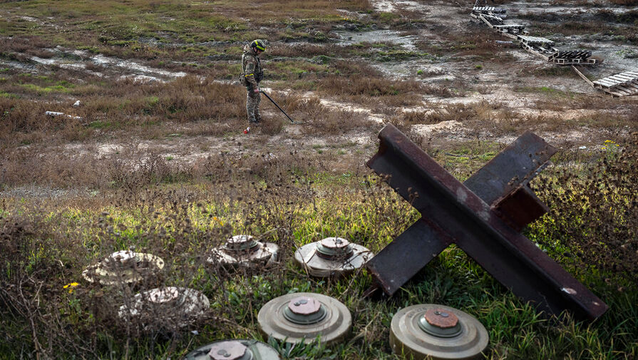
{"label": "dry brown-green shrub at right edge behind the steel cross", "polygon": [[[635,286],[638,277],[638,133],[620,146],[605,143],[599,160],[582,170],[562,168],[537,182],[550,207],[540,240],[577,266]],[[565,249],[565,250],[561,250]],[[570,262],[569,260],[565,260]]]}

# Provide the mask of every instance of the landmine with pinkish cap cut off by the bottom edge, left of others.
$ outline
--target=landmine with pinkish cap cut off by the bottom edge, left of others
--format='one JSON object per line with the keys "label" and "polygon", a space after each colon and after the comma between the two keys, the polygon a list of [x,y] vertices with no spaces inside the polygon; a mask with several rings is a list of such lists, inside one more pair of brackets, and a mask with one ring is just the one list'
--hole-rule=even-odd
{"label": "landmine with pinkish cap cut off by the bottom edge, left of others", "polygon": [[257,340],[232,339],[215,341],[186,355],[184,360],[279,360],[279,353]]}

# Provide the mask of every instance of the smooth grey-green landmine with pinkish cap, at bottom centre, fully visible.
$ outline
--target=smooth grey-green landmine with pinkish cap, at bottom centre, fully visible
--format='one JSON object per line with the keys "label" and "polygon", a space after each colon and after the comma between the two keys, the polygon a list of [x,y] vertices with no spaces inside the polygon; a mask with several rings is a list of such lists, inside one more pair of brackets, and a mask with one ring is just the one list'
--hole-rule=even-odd
{"label": "smooth grey-green landmine with pinkish cap, at bottom centre, fully visible", "polygon": [[350,331],[352,317],[338,300],[312,292],[287,294],[267,302],[257,315],[259,328],[267,336],[292,344],[322,344],[342,339]]}

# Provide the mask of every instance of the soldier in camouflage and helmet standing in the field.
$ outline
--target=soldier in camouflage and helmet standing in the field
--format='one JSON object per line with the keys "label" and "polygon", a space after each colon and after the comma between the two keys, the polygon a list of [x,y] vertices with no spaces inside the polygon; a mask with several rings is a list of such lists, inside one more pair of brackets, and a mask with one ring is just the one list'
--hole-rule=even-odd
{"label": "soldier in camouflage and helmet standing in the field", "polygon": [[244,46],[242,55],[242,83],[248,91],[246,110],[249,123],[259,123],[262,120],[262,115],[259,114],[259,81],[264,78],[264,70],[259,63],[259,54],[262,51],[266,51],[266,44],[263,40],[255,40]]}

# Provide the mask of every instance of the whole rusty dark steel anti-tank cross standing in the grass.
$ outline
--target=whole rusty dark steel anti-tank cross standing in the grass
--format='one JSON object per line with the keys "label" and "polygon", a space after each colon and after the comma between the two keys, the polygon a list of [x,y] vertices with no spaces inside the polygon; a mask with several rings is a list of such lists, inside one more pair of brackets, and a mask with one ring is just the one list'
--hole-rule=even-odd
{"label": "whole rusty dark steel anti-tank cross standing in the grass", "polygon": [[[529,181],[556,149],[527,132],[461,183],[389,124],[367,165],[421,212],[421,219],[368,264],[375,286],[394,294],[451,244],[456,244],[515,295],[545,314],[570,310],[596,319],[607,304],[534,242],[520,234],[547,212]],[[401,264],[401,266],[397,266]]]}

